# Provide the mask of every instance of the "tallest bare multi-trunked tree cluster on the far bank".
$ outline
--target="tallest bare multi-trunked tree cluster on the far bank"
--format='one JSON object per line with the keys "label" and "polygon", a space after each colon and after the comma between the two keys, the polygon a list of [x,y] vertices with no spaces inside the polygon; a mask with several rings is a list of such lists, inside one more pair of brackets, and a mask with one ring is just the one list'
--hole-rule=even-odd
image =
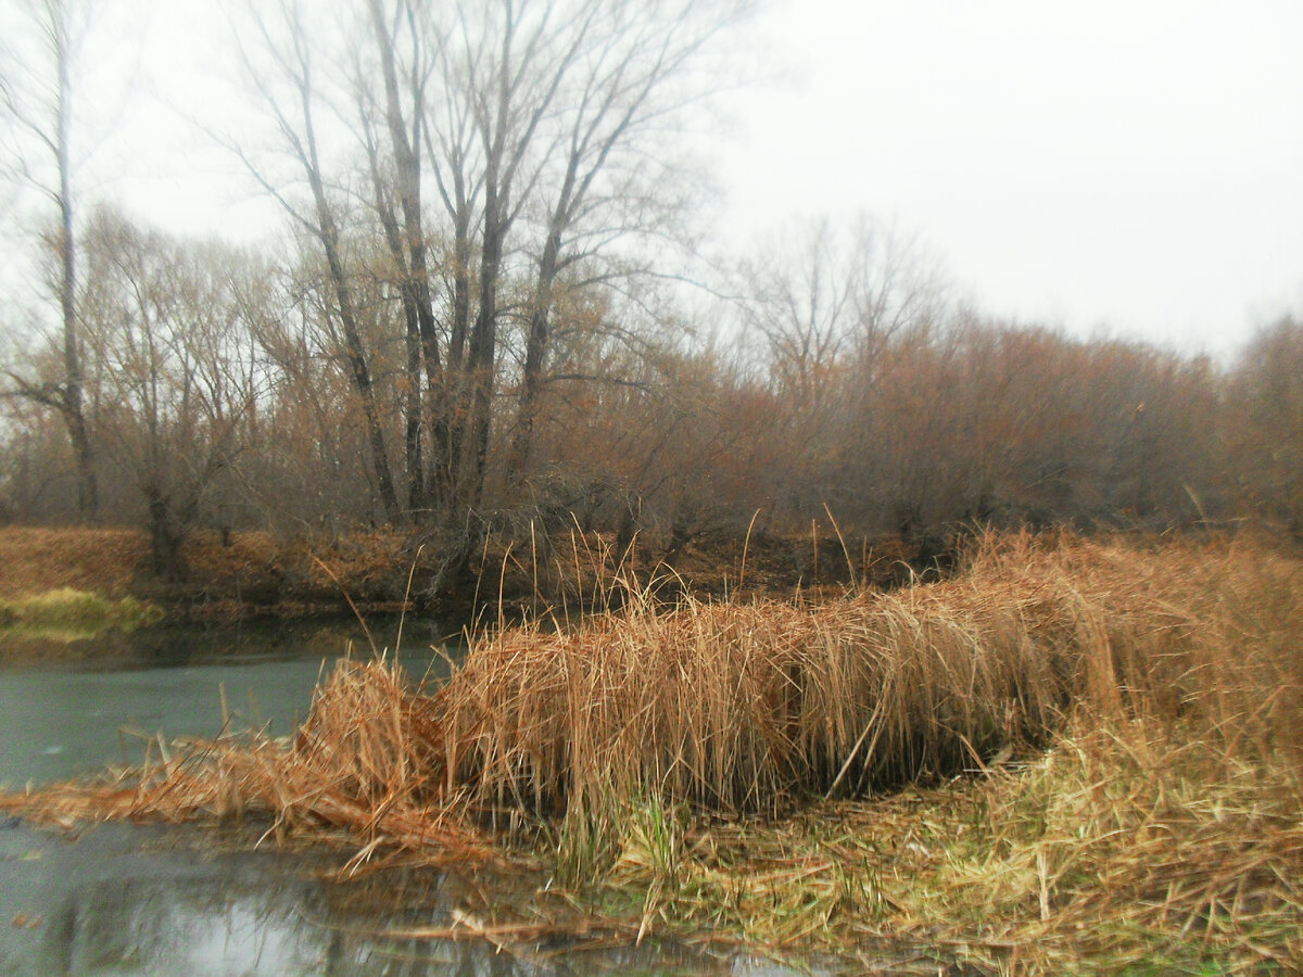
{"label": "tallest bare multi-trunked tree cluster on the far bank", "polygon": [[[353,350],[360,391],[356,365],[375,350],[365,348],[356,285],[367,232],[354,224],[351,249],[339,228],[351,195],[365,198],[374,249],[387,254],[403,323],[412,516],[459,520],[481,504],[493,432],[508,430],[498,421],[504,378],[517,391],[507,461],[516,472],[528,462],[552,317],[582,304],[560,294],[615,285],[644,267],[629,261],[633,240],[671,236],[688,181],[666,178],[668,154],[658,150],[717,83],[718,74],[693,72],[721,53],[715,42],[748,7],[365,0],[336,22],[331,60],[349,66],[347,98],[339,78],[313,74],[322,18],[308,21],[291,0],[275,25],[254,18],[268,70],[255,68],[251,44],[245,65],[311,206],[244,155],[324,253],[330,313]],[[326,109],[361,150],[354,172],[365,190],[352,189],[348,164],[323,163],[315,120]],[[380,408],[374,395],[364,400],[377,404],[367,423],[379,457]]]}

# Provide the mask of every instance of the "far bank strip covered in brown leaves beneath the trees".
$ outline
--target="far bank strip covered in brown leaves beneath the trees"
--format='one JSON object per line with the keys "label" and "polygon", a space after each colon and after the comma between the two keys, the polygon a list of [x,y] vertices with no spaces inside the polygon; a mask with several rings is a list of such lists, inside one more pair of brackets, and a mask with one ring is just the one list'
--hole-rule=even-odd
{"label": "far bank strip covered in brown leaves beneath the trees", "polygon": [[[607,610],[628,591],[620,581],[632,582],[633,590],[654,588],[667,599],[899,586],[951,556],[936,541],[843,541],[817,531],[800,539],[717,534],[654,560],[637,547],[618,552],[615,542],[599,534],[536,535],[524,543],[490,535],[452,572],[437,541],[391,530],[284,538],[197,531],[182,555],[185,580],[163,581],[152,573],[149,538],[138,530],[0,526],[0,602],[56,591],[133,599],[152,608],[142,623],[152,623],[159,612],[173,621],[235,621],[353,610],[410,610],[474,621],[499,614],[517,619]],[[115,625],[106,619],[104,627]]]}

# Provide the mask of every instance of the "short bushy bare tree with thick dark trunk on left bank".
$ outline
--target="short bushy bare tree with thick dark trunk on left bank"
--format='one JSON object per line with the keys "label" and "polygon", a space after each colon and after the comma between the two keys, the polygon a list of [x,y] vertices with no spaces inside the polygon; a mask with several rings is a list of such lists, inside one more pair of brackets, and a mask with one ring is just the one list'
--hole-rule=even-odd
{"label": "short bushy bare tree with thick dark trunk on left bank", "polygon": [[89,352],[100,430],[143,503],[159,576],[182,580],[181,546],[250,443],[266,371],[249,343],[257,276],[216,244],[182,244],[98,211],[85,236]]}

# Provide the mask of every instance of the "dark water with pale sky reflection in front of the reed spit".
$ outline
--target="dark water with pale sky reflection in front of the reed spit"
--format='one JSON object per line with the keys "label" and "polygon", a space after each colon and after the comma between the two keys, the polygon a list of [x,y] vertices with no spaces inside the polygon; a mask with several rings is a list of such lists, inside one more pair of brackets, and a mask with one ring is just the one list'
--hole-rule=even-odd
{"label": "dark water with pale sky reflection in front of the reed spit", "polygon": [[[308,856],[205,855],[176,831],[103,826],[72,842],[0,830],[0,972],[36,974],[787,974],[684,947],[577,952],[487,941],[387,939],[447,927],[473,898],[457,873],[340,883]],[[182,838],[202,840],[185,832]],[[378,901],[383,900],[383,911]],[[364,908],[365,907],[365,908]],[[10,924],[12,921],[12,924]]]}

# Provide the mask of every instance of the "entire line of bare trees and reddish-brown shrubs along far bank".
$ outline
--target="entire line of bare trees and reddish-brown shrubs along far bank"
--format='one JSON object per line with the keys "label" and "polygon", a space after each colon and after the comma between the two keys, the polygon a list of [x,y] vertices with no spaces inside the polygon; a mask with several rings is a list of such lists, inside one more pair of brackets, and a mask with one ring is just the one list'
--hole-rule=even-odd
{"label": "entire line of bare trees and reddish-brown shrubs along far bank", "polygon": [[[281,207],[236,249],[74,207],[73,8],[8,77],[13,167],[55,212],[48,311],[7,323],[0,507],[197,528],[404,526],[455,568],[485,533],[674,551],[833,513],[958,524],[1255,515],[1303,535],[1303,327],[1234,363],[956,302],[872,218],[780,228],[687,289],[745,3],[283,0],[236,21],[262,130],[215,133]],[[689,141],[691,142],[691,141]],[[43,167],[42,167],[43,160]]]}

